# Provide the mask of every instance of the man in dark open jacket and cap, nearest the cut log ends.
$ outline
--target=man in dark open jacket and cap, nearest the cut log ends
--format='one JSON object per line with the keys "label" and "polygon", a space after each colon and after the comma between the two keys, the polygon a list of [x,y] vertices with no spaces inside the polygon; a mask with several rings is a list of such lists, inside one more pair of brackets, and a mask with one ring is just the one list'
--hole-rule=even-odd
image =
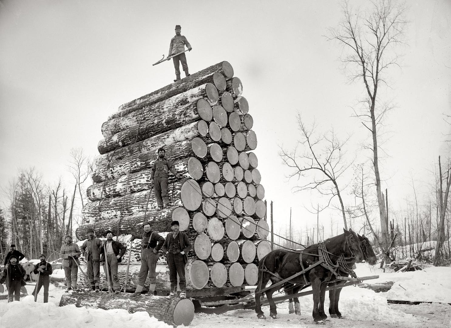
{"label": "man in dark open jacket and cap, nearest the cut log ends", "polygon": [[162,247],[169,266],[170,294],[167,298],[177,295],[177,274],[179,275],[180,298],[185,298],[185,264],[188,262],[187,254],[191,249],[191,242],[186,233],[179,231],[178,221],[172,221],[171,229],[172,233],[166,236]]}

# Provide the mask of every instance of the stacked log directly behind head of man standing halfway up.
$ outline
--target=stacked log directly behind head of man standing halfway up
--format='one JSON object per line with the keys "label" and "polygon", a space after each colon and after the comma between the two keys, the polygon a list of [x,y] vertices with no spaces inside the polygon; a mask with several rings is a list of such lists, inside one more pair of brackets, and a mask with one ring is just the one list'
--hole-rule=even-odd
{"label": "stacked log directly behind head of man standing halfway up", "polygon": [[[182,158],[196,156],[203,158],[207,155],[207,145],[202,139],[196,137],[192,140],[185,140],[173,143],[165,147],[166,158],[172,162]],[[138,152],[120,161],[110,163],[110,165],[97,166],[92,173],[92,180],[95,183],[110,179],[117,179],[121,176],[150,169],[157,160],[155,152]]]}

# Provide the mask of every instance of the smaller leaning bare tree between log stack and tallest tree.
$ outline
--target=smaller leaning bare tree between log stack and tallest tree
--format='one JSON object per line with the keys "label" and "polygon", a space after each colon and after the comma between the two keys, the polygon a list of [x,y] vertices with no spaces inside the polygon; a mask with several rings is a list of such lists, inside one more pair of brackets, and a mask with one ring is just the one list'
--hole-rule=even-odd
{"label": "smaller leaning bare tree between log stack and tallest tree", "polygon": [[[295,192],[317,190],[322,196],[326,196],[327,205],[323,206],[321,210],[327,208],[337,197],[340,201],[345,229],[347,229],[345,207],[340,193],[344,187],[338,185],[338,179],[350,166],[350,163],[345,161],[344,151],[344,146],[350,137],[341,141],[333,129],[325,134],[317,134],[315,123],[311,127],[307,127],[299,114],[297,120],[301,132],[300,140],[293,151],[281,148],[279,153],[283,164],[293,169],[288,177],[297,177],[298,180],[308,179],[308,182],[296,186]],[[298,147],[302,148],[300,154],[297,153]]]}

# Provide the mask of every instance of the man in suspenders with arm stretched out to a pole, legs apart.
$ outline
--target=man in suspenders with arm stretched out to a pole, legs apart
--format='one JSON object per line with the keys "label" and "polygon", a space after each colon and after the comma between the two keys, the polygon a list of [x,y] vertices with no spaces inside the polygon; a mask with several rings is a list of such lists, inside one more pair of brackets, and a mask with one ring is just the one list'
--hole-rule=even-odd
{"label": "man in suspenders with arm stretched out to a pole, legs apart", "polygon": [[130,237],[130,241],[135,239],[142,239],[141,244],[141,269],[138,274],[138,286],[136,286],[136,291],[133,294],[134,297],[141,296],[141,291],[143,290],[144,283],[147,279],[147,274],[149,275],[149,291],[147,295],[154,295],[156,287],[156,262],[159,259],[158,251],[161,249],[165,239],[161,237],[158,232],[152,231],[150,229],[150,223],[143,223],[144,232],[139,235],[134,235]]}

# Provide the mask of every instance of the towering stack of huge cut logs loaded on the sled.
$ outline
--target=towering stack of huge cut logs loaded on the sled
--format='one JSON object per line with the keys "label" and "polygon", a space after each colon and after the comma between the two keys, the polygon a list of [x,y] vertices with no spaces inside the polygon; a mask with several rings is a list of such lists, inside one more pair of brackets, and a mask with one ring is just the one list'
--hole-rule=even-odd
{"label": "towering stack of huge cut logs loaded on the sled", "polygon": [[[271,246],[265,189],[252,152],[257,139],[242,91],[232,66],[223,61],[120,106],[102,125],[105,139],[98,144],[94,184],[87,189],[91,202],[83,208],[88,223],[78,227],[76,236],[81,245],[87,228],[99,238],[110,229],[131,245],[126,290],[134,290],[141,260],[141,240],[130,243],[129,237],[141,233],[147,221],[166,236],[177,220],[188,234],[193,244],[186,265],[188,289],[257,284],[258,261]],[[170,176],[174,205],[163,210],[150,188],[160,147],[183,176]],[[127,251],[122,264],[128,257]],[[119,268],[121,285],[125,267]],[[163,256],[157,289],[169,290]]]}

